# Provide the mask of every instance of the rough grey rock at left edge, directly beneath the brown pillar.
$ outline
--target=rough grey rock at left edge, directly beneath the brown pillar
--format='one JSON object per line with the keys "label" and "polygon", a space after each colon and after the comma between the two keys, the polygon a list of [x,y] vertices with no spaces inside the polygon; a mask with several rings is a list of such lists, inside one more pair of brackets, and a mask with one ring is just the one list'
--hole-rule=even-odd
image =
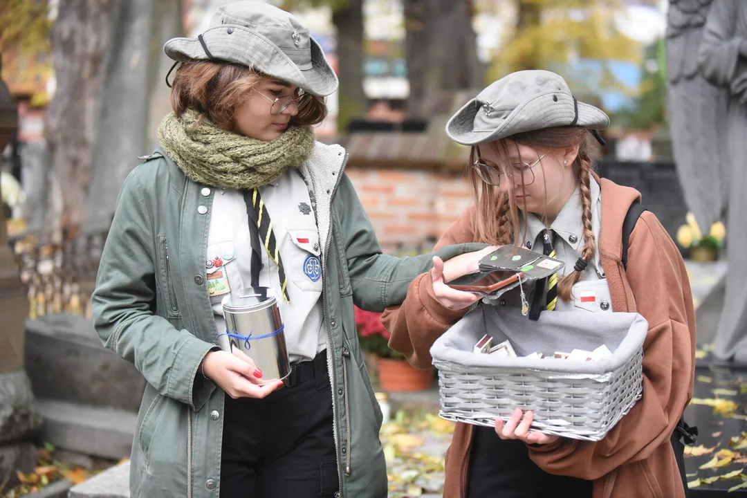
{"label": "rough grey rock at left edge, directly beneath the brown pillar", "polygon": [[0,373],[0,443],[20,441],[40,423],[26,373],[23,370]]}

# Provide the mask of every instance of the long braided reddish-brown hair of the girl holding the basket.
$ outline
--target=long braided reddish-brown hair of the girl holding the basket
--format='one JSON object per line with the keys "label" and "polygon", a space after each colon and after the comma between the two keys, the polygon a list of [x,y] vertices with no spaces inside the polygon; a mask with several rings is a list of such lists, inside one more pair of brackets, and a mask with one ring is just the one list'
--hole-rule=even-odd
{"label": "long braided reddish-brown hair of the girl holding the basket", "polygon": [[[512,135],[498,142],[495,146],[498,157],[507,158],[509,155],[506,140],[512,140],[521,145],[530,146],[533,149],[562,149],[578,144],[578,155],[573,161],[572,170],[575,180],[580,185],[581,205],[583,213],[583,239],[584,245],[581,258],[591,261],[596,250],[596,240],[592,231],[592,193],[590,187],[590,175],[594,168],[594,161],[598,159],[599,152],[595,146],[594,139],[586,128],[579,126],[562,126],[558,128],[545,128],[536,131],[527,131]],[[501,153],[502,152],[502,153]],[[477,237],[478,240],[494,245],[505,246],[514,243],[521,246],[524,236],[519,233],[518,208],[513,201],[513,196],[500,193],[498,187],[493,187],[480,180],[474,168],[474,160],[477,158],[477,147],[472,147],[470,163],[468,166],[468,178],[472,184],[472,191],[477,203]],[[506,161],[500,161],[505,163]],[[542,161],[538,166],[542,165]],[[505,164],[499,164],[501,169]],[[537,166],[535,166],[537,167]],[[543,166],[544,167],[544,166]],[[495,206],[498,211],[495,211]],[[526,223],[524,231],[526,232]],[[571,299],[571,288],[580,278],[581,273],[573,271],[562,278],[558,284],[558,296],[564,301]]]}

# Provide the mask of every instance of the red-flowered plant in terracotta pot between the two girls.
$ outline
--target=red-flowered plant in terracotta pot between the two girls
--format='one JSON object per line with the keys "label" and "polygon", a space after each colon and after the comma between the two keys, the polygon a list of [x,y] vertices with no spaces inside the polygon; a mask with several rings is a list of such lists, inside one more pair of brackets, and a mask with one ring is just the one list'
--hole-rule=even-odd
{"label": "red-flowered plant in terracotta pot between the two girls", "polygon": [[427,370],[412,367],[404,355],[389,347],[391,334],[381,323],[380,313],[356,306],[355,314],[361,350],[373,357],[382,390],[425,390],[433,384],[433,367]]}

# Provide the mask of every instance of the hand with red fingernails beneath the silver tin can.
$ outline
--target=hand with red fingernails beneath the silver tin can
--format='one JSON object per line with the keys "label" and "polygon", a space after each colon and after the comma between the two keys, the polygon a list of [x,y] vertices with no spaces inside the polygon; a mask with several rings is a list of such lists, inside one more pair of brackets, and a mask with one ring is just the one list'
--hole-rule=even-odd
{"label": "hand with red fingernails beneath the silver tin can", "polygon": [[282,386],[281,380],[259,385],[262,382],[261,370],[239,349],[233,349],[232,353],[208,352],[202,360],[202,371],[233,399],[261,399]]}

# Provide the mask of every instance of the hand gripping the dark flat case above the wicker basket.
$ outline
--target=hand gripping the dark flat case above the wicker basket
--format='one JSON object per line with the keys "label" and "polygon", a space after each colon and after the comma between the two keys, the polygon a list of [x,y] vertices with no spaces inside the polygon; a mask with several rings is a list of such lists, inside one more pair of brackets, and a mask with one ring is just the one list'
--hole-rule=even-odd
{"label": "hand gripping the dark flat case above the wicker basket", "polygon": [[430,276],[433,280],[433,295],[436,296],[438,302],[453,311],[469,308],[474,302],[477,302],[477,299],[480,299],[477,294],[452,289],[446,282],[479,271],[480,260],[495,249],[498,249],[498,247],[488,246],[480,251],[465,252],[465,254],[455,256],[445,263],[438,256],[433,256],[433,268],[430,270]]}

